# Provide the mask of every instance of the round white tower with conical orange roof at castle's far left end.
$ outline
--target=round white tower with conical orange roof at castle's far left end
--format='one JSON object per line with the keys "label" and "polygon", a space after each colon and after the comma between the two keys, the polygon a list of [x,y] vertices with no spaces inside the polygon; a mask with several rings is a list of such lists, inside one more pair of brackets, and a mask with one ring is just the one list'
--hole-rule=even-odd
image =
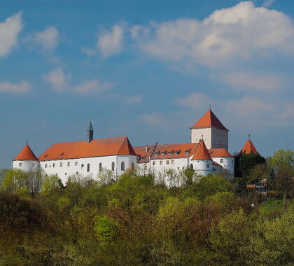
{"label": "round white tower with conical orange roof at castle's far left end", "polygon": [[38,158],[36,158],[28,144],[22,148],[22,151],[13,160],[13,169],[20,169],[24,172],[38,171]]}

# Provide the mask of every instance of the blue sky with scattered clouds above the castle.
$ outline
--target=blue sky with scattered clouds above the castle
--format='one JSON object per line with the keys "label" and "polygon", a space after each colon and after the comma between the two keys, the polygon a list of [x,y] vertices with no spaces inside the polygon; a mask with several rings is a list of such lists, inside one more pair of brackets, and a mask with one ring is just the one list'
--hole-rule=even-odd
{"label": "blue sky with scattered clouds above the castle", "polygon": [[1,0],[0,169],[29,141],[190,141],[209,109],[263,156],[294,149],[293,0]]}

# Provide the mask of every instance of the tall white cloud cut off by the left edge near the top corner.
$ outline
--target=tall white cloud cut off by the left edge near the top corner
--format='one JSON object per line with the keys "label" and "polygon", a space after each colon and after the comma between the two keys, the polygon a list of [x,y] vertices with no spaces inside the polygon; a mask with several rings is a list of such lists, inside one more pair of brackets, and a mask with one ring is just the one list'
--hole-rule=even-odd
{"label": "tall white cloud cut off by the left edge near the top corner", "polygon": [[17,13],[0,23],[0,57],[8,55],[18,44],[18,34],[22,30],[22,13]]}

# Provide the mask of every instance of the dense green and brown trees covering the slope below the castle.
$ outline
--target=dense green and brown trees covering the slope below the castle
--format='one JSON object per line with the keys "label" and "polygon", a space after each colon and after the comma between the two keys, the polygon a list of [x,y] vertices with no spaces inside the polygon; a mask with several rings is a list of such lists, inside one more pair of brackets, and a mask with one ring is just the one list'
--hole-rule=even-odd
{"label": "dense green and brown trees covering the slope below the castle", "polygon": [[180,188],[134,172],[71,176],[64,187],[57,176],[6,171],[0,265],[293,265],[293,165],[253,167],[246,181],[272,170],[267,201],[241,190],[241,178],[191,182],[191,169]]}

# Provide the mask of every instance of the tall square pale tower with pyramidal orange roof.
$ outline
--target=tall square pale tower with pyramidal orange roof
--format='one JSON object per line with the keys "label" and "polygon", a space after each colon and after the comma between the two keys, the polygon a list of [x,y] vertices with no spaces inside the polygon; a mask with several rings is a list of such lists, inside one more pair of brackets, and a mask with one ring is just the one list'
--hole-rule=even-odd
{"label": "tall square pale tower with pyramidal orange roof", "polygon": [[203,138],[207,148],[225,148],[228,150],[228,132],[216,115],[209,109],[197,121],[191,130],[191,143],[198,143]]}

